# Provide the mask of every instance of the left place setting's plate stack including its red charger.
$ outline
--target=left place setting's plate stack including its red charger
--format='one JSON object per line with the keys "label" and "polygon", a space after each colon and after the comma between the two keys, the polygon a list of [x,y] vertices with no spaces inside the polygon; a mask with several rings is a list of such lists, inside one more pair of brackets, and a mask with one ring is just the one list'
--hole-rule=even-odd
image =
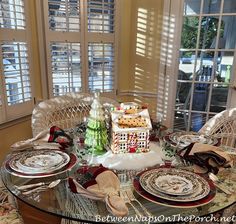
{"label": "left place setting's plate stack including its red charger", "polygon": [[59,150],[23,151],[5,163],[13,175],[22,177],[52,176],[72,168],[76,163],[74,154],[68,155]]}

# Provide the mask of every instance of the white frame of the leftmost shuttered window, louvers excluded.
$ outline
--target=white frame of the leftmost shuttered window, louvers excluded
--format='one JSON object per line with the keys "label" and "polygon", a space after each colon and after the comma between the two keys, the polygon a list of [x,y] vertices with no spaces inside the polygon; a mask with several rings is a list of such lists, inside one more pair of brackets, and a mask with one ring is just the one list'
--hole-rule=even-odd
{"label": "white frame of the leftmost shuttered window, louvers excluded", "polygon": [[28,65],[29,65],[29,78],[30,78],[30,88],[31,88],[31,100],[17,103],[14,105],[8,105],[7,101],[7,92],[6,92],[6,83],[5,76],[3,72],[3,57],[2,49],[0,48],[0,96],[2,101],[2,106],[0,106],[0,125],[17,120],[19,118],[31,115],[32,109],[34,107],[34,77],[33,77],[33,53],[32,53],[32,29],[30,23],[30,10],[29,2],[27,0],[22,0],[24,4],[24,16],[25,16],[25,29],[9,29],[9,28],[0,28],[1,36],[0,43],[4,42],[24,42],[27,45],[27,54],[28,54]]}

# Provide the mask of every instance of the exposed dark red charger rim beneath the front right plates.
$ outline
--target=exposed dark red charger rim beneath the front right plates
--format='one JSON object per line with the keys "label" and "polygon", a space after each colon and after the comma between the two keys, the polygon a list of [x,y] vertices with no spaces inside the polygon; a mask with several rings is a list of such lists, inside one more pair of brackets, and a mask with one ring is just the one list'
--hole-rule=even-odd
{"label": "exposed dark red charger rim beneath the front right plates", "polygon": [[[137,194],[139,194],[141,197],[145,198],[148,201],[151,201],[153,203],[159,204],[159,205],[164,205],[164,206],[168,206],[168,207],[175,207],[175,208],[194,208],[194,207],[199,207],[199,206],[203,206],[206,205],[208,203],[210,203],[216,194],[216,189],[214,184],[212,183],[212,181],[207,180],[207,183],[210,187],[210,192],[208,195],[206,195],[204,198],[199,199],[199,200],[195,200],[195,201],[173,201],[173,200],[168,200],[168,199],[164,199],[158,196],[154,196],[152,194],[150,194],[149,192],[147,192],[146,190],[144,190],[140,184],[140,176],[147,171],[143,171],[139,174],[136,175],[136,177],[134,178],[133,181],[133,186],[135,191],[137,192]],[[178,197],[178,196],[176,196]]]}

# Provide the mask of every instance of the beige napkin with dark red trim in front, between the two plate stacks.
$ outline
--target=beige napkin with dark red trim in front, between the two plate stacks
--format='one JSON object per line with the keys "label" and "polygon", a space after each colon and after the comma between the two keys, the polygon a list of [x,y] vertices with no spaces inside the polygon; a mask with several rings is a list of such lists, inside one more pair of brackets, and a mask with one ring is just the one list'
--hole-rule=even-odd
{"label": "beige napkin with dark red trim in front, between the two plate stacks", "polygon": [[[86,176],[90,176],[90,180]],[[82,181],[84,183],[79,183],[74,178],[69,178],[68,181],[73,193],[79,193],[93,200],[104,201],[107,210],[115,216],[128,214],[128,208],[119,196],[120,181],[112,171],[99,167],[94,173],[90,173],[90,170],[86,171],[85,181]]]}

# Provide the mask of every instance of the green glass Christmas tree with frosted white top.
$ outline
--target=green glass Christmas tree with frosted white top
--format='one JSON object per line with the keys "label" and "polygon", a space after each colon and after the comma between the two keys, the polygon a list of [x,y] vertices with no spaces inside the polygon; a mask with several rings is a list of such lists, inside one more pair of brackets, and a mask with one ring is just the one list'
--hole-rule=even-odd
{"label": "green glass Christmas tree with frosted white top", "polygon": [[85,134],[85,145],[95,155],[104,154],[106,152],[105,145],[108,144],[105,116],[99,96],[99,92],[94,94]]}

